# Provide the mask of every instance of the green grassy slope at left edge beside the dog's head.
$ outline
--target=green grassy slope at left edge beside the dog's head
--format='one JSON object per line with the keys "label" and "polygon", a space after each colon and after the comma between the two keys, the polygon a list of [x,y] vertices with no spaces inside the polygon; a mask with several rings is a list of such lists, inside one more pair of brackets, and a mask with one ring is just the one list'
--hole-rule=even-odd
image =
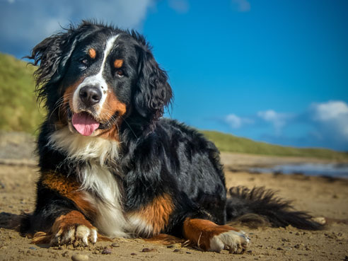
{"label": "green grassy slope at left edge beside the dog's head", "polygon": [[0,53],[0,129],[34,134],[42,122],[34,93],[34,67]]}

